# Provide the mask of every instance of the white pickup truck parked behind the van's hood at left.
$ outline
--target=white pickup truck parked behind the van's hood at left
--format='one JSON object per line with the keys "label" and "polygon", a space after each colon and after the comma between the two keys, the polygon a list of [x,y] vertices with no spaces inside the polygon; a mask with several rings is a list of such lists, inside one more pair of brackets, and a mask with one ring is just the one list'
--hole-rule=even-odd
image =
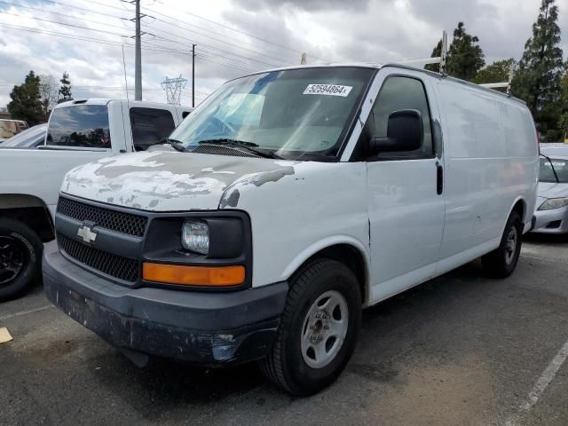
{"label": "white pickup truck parked behind the van's hood at left", "polygon": [[34,282],[43,242],[53,240],[67,171],[103,157],[144,151],[170,135],[192,108],[121,99],[59,104],[42,146],[0,148],[0,301]]}

